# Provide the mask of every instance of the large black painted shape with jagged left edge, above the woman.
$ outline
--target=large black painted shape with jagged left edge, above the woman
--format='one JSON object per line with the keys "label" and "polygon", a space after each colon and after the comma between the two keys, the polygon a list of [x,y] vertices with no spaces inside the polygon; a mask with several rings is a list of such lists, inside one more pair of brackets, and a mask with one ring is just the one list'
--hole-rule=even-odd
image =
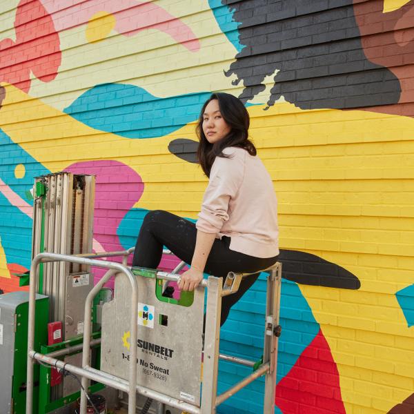
{"label": "large black painted shape with jagged left edge, above the woman", "polygon": [[221,0],[234,12],[244,48],[225,72],[244,81],[246,102],[273,75],[268,106],[284,96],[302,109],[397,103],[400,81],[366,59],[352,0]]}

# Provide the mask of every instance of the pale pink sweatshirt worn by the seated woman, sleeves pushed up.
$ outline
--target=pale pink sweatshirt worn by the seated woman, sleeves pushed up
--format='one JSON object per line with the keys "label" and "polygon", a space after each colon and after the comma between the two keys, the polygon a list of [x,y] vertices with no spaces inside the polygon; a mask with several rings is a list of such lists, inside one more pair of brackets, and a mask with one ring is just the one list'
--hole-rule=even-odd
{"label": "pale pink sweatshirt worn by the seated woman, sleeves pushed up", "polygon": [[255,257],[279,254],[277,199],[259,157],[229,147],[216,157],[196,227],[231,237],[230,249]]}

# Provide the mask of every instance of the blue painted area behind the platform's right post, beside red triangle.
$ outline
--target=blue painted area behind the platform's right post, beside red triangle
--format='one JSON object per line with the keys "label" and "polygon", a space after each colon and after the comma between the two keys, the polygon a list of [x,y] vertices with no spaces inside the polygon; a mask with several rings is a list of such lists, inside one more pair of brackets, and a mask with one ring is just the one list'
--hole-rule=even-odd
{"label": "blue painted area behind the platform's right post, beside red triangle", "polygon": [[[230,311],[230,315],[221,328],[220,352],[246,359],[257,360],[263,354],[264,293],[266,275],[262,273],[257,282],[244,294]],[[256,313],[257,309],[261,311]],[[250,311],[249,311],[250,310]],[[288,374],[299,356],[313,341],[319,332],[319,324],[310,317],[311,308],[295,282],[282,280],[282,297],[279,323],[282,335],[279,338],[277,354],[277,382]],[[230,364],[219,363],[218,390],[222,393],[231,384],[235,384],[251,371]],[[235,396],[217,409],[217,413],[263,413],[264,378],[246,386]],[[250,402],[250,407],[240,406],[240,402]],[[236,411],[233,411],[233,410]],[[239,411],[237,411],[239,410]],[[282,413],[275,406],[275,413]]]}

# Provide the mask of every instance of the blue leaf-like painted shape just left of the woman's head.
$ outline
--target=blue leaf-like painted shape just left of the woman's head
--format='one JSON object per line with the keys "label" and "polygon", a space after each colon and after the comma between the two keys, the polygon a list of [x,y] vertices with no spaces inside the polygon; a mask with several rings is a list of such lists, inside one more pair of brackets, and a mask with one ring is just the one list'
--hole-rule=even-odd
{"label": "blue leaf-like painted shape just left of the woman's head", "polygon": [[198,92],[159,98],[135,85],[103,83],[84,92],[64,112],[121,137],[155,138],[195,121],[210,95]]}

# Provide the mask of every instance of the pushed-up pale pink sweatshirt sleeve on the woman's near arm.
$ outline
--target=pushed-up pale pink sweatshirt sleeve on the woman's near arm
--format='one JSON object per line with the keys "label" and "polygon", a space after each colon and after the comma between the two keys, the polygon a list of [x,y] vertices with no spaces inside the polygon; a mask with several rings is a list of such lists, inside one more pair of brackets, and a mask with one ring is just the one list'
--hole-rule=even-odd
{"label": "pushed-up pale pink sweatshirt sleeve on the woman's near arm", "polygon": [[[227,148],[226,148],[227,149]],[[237,194],[244,175],[245,150],[224,152],[233,158],[216,157],[195,226],[204,233],[219,233],[228,220],[228,204]]]}

